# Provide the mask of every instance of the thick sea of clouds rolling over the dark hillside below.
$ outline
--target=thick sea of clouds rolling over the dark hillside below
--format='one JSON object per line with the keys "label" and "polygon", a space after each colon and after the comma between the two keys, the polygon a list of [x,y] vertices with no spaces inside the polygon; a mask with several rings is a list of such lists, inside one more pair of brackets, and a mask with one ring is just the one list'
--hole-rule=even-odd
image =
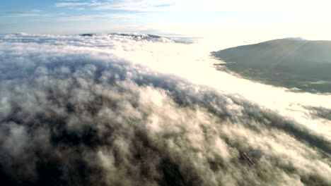
{"label": "thick sea of clouds rolling over the dark hillside below", "polygon": [[0,35],[1,185],[331,185],[330,95],[217,71],[209,51]]}

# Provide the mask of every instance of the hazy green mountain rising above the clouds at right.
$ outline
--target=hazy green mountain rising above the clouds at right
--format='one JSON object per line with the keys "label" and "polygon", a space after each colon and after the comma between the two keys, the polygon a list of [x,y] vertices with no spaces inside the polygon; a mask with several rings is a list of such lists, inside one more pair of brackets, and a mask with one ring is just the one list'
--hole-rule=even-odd
{"label": "hazy green mountain rising above the clouds at right", "polygon": [[211,53],[216,64],[250,80],[307,92],[331,92],[331,41],[287,38]]}

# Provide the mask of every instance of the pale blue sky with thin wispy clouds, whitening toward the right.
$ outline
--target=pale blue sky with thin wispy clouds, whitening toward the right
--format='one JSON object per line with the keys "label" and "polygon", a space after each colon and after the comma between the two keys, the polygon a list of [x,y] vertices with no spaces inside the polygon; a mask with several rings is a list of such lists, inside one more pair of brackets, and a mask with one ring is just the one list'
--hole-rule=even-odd
{"label": "pale blue sky with thin wispy clouds, whitening toward the right", "polygon": [[326,0],[11,0],[0,4],[0,33],[331,39]]}

